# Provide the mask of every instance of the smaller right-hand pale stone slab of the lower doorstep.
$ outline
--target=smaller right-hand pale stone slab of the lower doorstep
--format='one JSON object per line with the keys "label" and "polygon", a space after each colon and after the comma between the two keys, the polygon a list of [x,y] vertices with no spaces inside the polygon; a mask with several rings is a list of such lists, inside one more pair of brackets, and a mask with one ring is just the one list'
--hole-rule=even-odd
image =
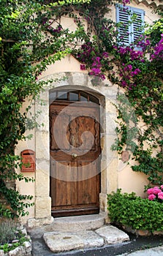
{"label": "smaller right-hand pale stone slab of the lower doorstep", "polygon": [[95,232],[105,239],[106,244],[119,244],[124,241],[129,241],[129,236],[124,231],[119,230],[112,225],[106,225],[95,230]]}

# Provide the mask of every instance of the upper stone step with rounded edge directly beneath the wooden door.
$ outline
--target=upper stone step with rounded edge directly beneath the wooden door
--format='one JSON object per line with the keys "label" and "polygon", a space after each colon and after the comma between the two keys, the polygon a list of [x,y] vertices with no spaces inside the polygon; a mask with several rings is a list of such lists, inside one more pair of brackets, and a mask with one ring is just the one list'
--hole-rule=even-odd
{"label": "upper stone step with rounded edge directly beneath the wooden door", "polygon": [[100,214],[59,217],[55,218],[45,231],[96,230],[103,225],[105,225],[105,217]]}

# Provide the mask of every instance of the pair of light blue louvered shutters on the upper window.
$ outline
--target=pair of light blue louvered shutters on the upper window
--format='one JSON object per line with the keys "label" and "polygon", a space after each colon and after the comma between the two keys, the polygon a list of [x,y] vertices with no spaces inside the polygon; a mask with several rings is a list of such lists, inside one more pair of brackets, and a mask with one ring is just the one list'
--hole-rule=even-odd
{"label": "pair of light blue louvered shutters on the upper window", "polygon": [[[133,23],[129,24],[132,20],[132,15],[137,15]],[[134,7],[123,7],[122,5],[116,6],[116,21],[121,23],[119,27],[119,39],[125,44],[129,45],[134,42],[140,34],[142,34],[142,26],[144,22],[144,11]]]}

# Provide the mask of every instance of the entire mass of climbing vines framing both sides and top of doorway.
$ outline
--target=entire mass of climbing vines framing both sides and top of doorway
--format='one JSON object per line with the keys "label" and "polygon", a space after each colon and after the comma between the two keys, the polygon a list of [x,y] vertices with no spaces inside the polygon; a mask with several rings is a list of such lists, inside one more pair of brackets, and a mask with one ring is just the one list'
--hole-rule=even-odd
{"label": "entire mass of climbing vines framing both sides and top of doorway", "polygon": [[[124,115],[124,98],[120,95],[117,108],[121,121],[113,150],[121,153],[126,146],[139,162],[132,170],[147,174],[151,184],[162,184],[162,10],[158,10],[160,19],[137,42],[126,46],[118,37],[122,24],[105,17],[117,3],[125,6],[130,1],[26,0],[23,6],[18,0],[1,1],[0,194],[7,204],[0,204],[0,216],[24,216],[28,214],[25,208],[32,205],[30,195],[20,195],[8,185],[9,180],[32,180],[15,173],[20,167],[15,146],[19,140],[26,140],[24,132],[30,123],[30,105],[25,113],[20,113],[20,108],[27,97],[36,99],[50,82],[38,80],[39,75],[67,54],[75,56],[80,69],[88,69],[89,75],[108,78],[124,90],[134,111]],[[64,15],[74,20],[75,31],[61,26]],[[135,50],[135,45],[140,50]]]}

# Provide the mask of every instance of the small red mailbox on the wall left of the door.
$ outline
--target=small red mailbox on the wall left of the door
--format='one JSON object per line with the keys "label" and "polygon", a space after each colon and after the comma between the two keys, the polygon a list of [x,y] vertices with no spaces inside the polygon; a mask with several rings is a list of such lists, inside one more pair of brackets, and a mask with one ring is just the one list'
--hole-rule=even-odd
{"label": "small red mailbox on the wall left of the door", "polygon": [[31,149],[21,151],[22,157],[22,172],[34,172],[35,171],[35,152]]}

